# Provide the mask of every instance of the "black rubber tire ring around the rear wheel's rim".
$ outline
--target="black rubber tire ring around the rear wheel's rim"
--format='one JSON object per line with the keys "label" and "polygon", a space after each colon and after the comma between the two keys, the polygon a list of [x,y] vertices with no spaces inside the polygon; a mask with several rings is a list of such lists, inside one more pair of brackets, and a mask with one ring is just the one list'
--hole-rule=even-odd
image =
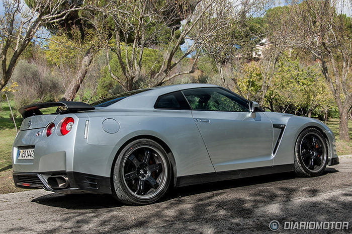
{"label": "black rubber tire ring around the rear wheel's rim", "polygon": [[[158,149],[163,155],[163,158],[165,159],[165,164],[166,164],[166,170],[167,170],[167,175],[166,175],[166,183],[162,190],[155,196],[148,198],[148,199],[141,199],[133,194],[131,194],[131,191],[129,188],[127,188],[127,185],[124,182],[124,174],[123,174],[123,163],[125,162],[125,159],[128,157],[129,153],[133,151],[135,148],[146,145],[146,146],[152,146]],[[135,141],[132,141],[131,143],[127,144],[119,153],[116,163],[114,165],[114,173],[113,173],[113,192],[115,193],[115,196],[121,200],[124,203],[128,204],[150,204],[153,203],[157,200],[159,200],[168,190],[168,187],[170,185],[171,181],[171,170],[170,170],[170,160],[168,159],[167,153],[163,149],[163,147],[158,144],[157,142],[150,140],[150,139],[138,139]],[[117,177],[115,176],[117,175]],[[120,188],[120,189],[119,189]]]}

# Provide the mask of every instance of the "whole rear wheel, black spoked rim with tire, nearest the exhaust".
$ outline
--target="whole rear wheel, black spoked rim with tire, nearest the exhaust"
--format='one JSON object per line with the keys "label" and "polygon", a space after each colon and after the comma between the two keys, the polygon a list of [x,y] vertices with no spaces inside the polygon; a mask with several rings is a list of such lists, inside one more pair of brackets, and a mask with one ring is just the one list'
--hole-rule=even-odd
{"label": "whole rear wheel, black spoked rim with tire, nearest the exhaust", "polygon": [[167,153],[150,139],[138,139],[126,145],[113,170],[112,192],[125,204],[155,202],[166,193],[171,181]]}

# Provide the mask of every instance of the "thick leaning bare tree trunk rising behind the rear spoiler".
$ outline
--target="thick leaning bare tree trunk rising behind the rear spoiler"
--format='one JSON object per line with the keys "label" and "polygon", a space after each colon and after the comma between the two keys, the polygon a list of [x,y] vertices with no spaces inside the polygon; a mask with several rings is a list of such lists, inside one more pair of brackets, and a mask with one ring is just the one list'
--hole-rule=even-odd
{"label": "thick leaning bare tree trunk rising behind the rear spoiler", "polygon": [[68,89],[63,95],[62,100],[73,101],[82,82],[84,81],[85,75],[87,74],[89,67],[91,66],[95,53],[96,53],[95,48],[91,47],[84,54],[83,59],[80,63],[80,67],[78,68],[75,74],[75,78],[68,86]]}

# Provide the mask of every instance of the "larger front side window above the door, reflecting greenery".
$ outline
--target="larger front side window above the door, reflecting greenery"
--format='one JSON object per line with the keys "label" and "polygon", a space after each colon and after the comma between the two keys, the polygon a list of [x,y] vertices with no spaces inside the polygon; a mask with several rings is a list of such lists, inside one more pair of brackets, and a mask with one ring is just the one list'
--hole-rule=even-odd
{"label": "larger front side window above the door, reflecting greenery", "polygon": [[193,110],[248,112],[248,104],[220,88],[197,88],[182,91]]}

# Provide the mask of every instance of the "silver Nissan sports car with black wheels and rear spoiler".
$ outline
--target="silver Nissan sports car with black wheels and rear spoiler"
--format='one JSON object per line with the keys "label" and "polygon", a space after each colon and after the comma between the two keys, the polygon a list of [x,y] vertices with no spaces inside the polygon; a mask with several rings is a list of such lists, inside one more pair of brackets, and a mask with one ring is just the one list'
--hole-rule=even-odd
{"label": "silver Nissan sports car with black wheels and rear spoiler", "polygon": [[[40,109],[58,107],[43,115]],[[22,107],[13,147],[16,186],[112,194],[148,204],[171,186],[295,171],[313,177],[338,164],[332,131],[318,120],[263,112],[219,86],[174,85],[91,105]]]}

